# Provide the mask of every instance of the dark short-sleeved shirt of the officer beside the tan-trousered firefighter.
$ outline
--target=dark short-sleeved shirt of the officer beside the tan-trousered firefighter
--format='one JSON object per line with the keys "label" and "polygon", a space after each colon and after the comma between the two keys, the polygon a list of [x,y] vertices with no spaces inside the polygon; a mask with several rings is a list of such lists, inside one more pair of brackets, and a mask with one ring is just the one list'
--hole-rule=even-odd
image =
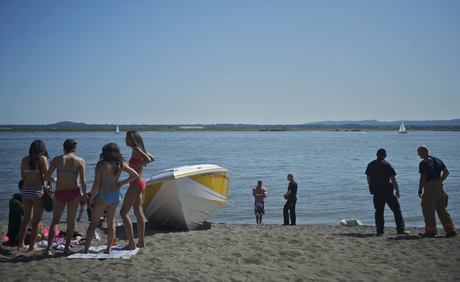
{"label": "dark short-sleeved shirt of the officer beside the tan-trousered firefighter", "polygon": [[391,184],[390,177],[396,175],[393,166],[382,158],[369,162],[365,173],[370,176],[374,190],[380,191],[385,191]]}

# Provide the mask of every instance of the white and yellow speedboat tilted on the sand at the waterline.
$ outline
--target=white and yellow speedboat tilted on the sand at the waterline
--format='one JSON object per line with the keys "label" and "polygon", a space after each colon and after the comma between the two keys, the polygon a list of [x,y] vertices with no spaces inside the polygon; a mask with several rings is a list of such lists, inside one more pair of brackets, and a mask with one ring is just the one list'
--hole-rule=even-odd
{"label": "white and yellow speedboat tilted on the sand at the waterline", "polygon": [[230,171],[212,164],[175,167],[145,179],[149,222],[195,230],[227,204]]}

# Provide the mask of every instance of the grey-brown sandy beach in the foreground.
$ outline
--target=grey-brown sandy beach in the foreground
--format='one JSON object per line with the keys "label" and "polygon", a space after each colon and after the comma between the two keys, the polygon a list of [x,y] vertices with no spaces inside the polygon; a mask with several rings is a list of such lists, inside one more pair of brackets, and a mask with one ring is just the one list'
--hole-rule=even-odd
{"label": "grey-brown sandy beach in the foreground", "polygon": [[[0,224],[2,237],[7,225]],[[84,234],[87,226],[78,222],[75,231]],[[460,237],[447,238],[442,230],[436,238],[421,237],[422,228],[406,230],[412,234],[400,236],[386,227],[385,235],[375,236],[375,227],[368,225],[206,222],[200,230],[177,231],[147,224],[147,247],[130,259],[67,259],[61,251],[45,256],[4,242],[0,276],[2,281],[460,280]],[[101,241],[92,246],[106,245],[105,225],[96,231]],[[123,226],[116,227],[116,236],[117,245],[127,243]]]}

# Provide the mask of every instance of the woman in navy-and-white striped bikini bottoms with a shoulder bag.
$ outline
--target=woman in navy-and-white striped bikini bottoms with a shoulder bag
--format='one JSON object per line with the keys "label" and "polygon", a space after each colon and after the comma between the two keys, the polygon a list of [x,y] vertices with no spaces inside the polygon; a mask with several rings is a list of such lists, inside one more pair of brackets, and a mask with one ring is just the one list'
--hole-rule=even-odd
{"label": "woman in navy-and-white striped bikini bottoms with a shoulder bag", "polygon": [[[27,228],[34,216],[34,226],[30,235],[29,250],[40,251],[34,243],[37,239],[39,226],[41,225],[41,216],[45,207],[43,206],[43,175],[48,171],[48,152],[45,144],[41,140],[35,140],[30,144],[29,155],[23,157],[21,162],[21,179],[24,180],[24,189],[22,191],[24,219],[19,229],[19,238],[17,250],[26,249],[24,243]],[[51,181],[56,181],[52,178]]]}

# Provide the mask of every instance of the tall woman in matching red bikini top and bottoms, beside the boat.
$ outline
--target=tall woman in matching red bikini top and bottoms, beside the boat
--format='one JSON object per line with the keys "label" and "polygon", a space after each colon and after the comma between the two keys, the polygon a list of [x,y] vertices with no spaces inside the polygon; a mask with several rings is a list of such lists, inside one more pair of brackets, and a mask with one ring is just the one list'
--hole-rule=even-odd
{"label": "tall woman in matching red bikini top and bottoms, beside the boat", "polygon": [[[146,164],[155,161],[153,155],[147,153],[144,148],[144,141],[137,131],[126,132],[126,145],[132,148],[131,159],[129,159],[129,166],[132,167],[139,177],[130,182],[129,188],[126,191],[123,205],[121,206],[120,216],[125,226],[126,235],[128,236],[128,245],[124,247],[126,250],[134,250],[136,247],[145,247],[144,232],[145,220],[142,213],[142,191],[145,189],[145,180],[142,176],[143,168]],[[132,230],[132,222],[129,218],[129,210],[131,207],[134,210],[134,215],[137,219],[139,241],[134,242],[134,232]]]}

